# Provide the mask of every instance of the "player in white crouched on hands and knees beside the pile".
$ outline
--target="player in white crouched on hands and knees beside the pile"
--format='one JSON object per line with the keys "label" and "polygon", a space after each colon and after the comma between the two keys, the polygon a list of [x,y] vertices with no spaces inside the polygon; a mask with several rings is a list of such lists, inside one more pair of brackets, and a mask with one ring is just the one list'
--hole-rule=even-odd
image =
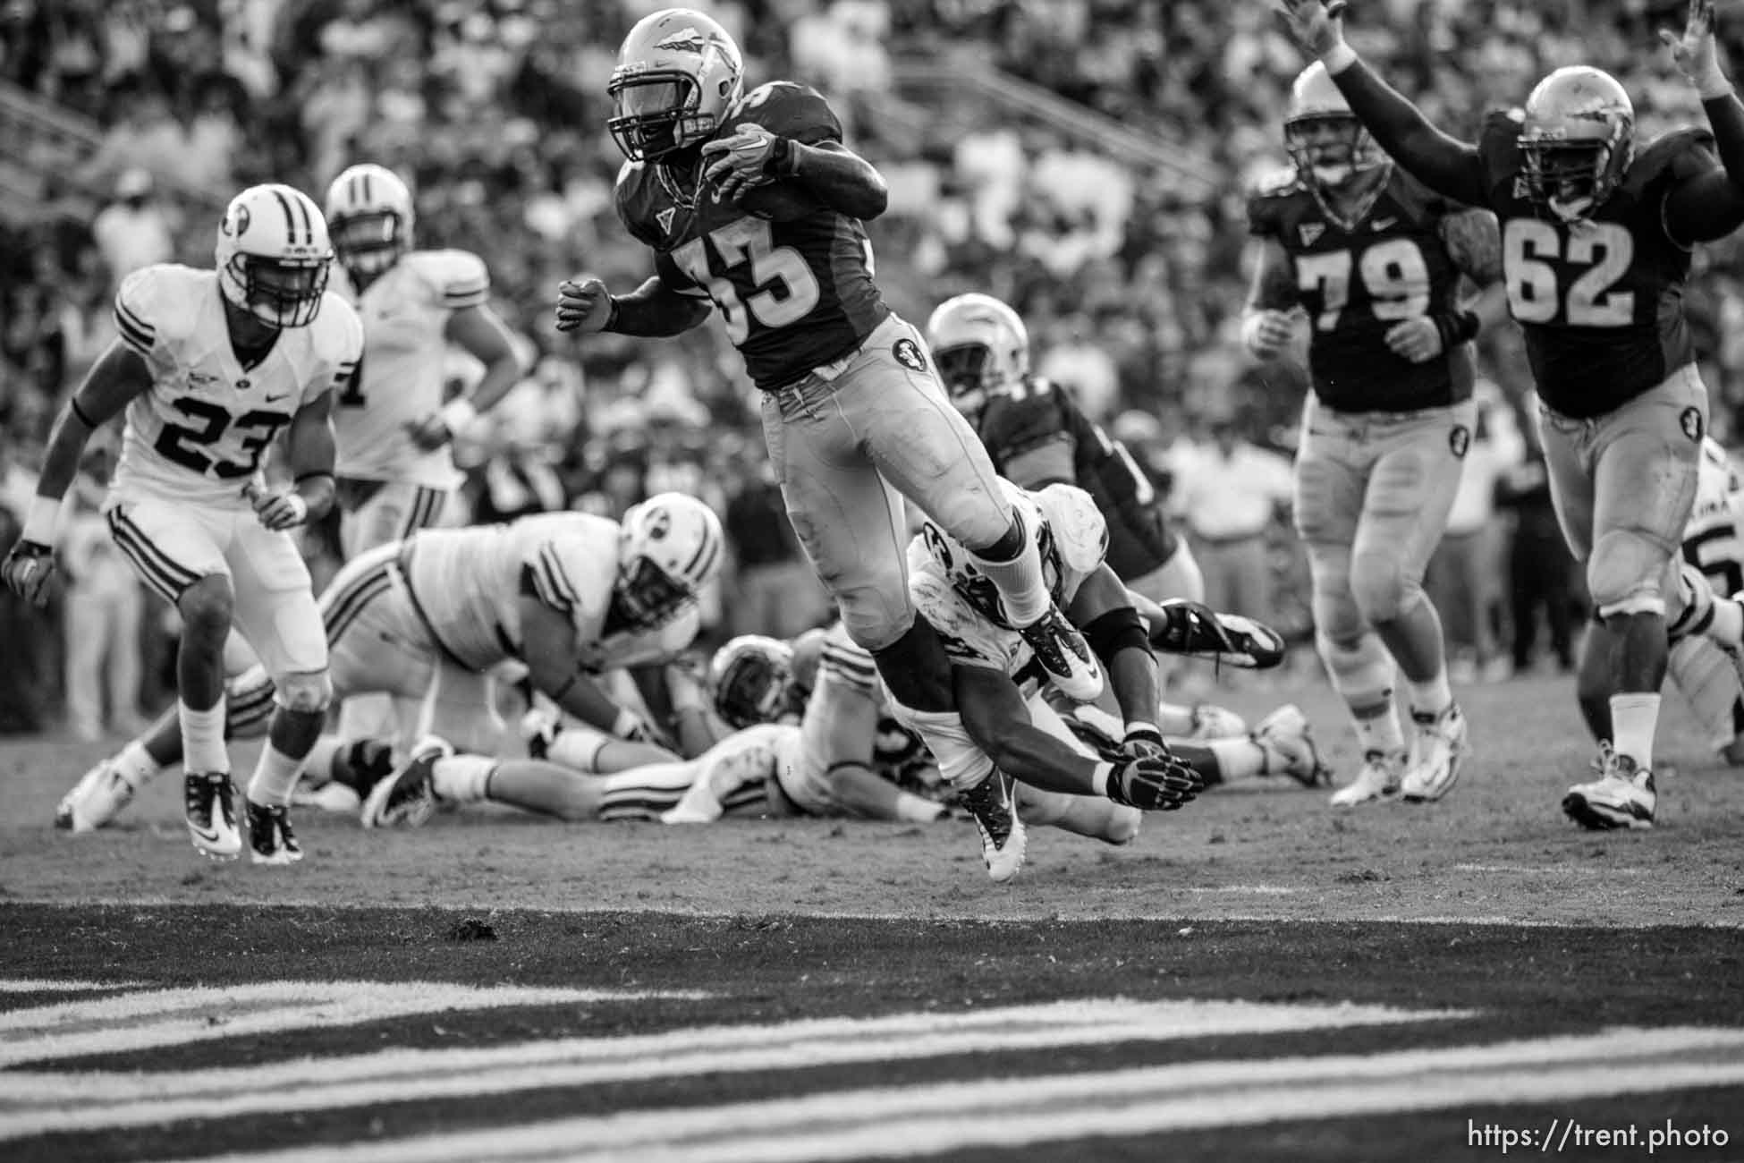
{"label": "player in white crouched on hands and knees beside the pile", "polygon": [[[502,736],[492,673],[525,668],[532,687],[563,711],[619,738],[642,734],[640,718],[595,682],[603,670],[659,661],[691,643],[698,593],[724,556],[720,521],[701,500],[661,493],[623,523],[582,513],[527,516],[509,525],[439,528],[377,546],[347,563],[319,616],[340,697],[391,694],[424,701],[426,731],[452,746],[412,750],[434,764],[436,792],[457,802],[485,799]],[[234,684],[232,701],[258,701],[260,671]],[[239,717],[232,732],[249,731]],[[316,786],[333,758],[351,764],[344,741],[309,764]],[[113,820],[138,786],[176,762],[174,734],[157,724],[80,779],[61,804],[63,825],[89,832]],[[385,793],[384,793],[385,795]],[[539,804],[532,804],[539,807]],[[366,821],[382,806],[364,806]]]}

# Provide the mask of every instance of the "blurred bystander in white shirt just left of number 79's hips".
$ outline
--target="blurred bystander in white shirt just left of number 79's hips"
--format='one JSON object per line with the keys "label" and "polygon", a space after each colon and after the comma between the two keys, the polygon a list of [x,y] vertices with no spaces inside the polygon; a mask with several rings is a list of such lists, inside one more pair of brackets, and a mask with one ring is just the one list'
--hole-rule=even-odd
{"label": "blurred bystander in white shirt just left of number 79's hips", "polygon": [[1266,535],[1291,504],[1291,462],[1242,434],[1233,415],[1210,420],[1210,441],[1175,459],[1172,504],[1205,574],[1205,603],[1271,621]]}

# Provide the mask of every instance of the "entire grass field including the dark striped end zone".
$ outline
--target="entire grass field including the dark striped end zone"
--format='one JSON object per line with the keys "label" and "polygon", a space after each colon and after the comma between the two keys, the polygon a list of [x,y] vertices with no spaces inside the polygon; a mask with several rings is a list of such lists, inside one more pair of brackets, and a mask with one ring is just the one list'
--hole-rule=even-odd
{"label": "entire grass field including the dark striped end zone", "polygon": [[0,1158],[1744,1158],[1744,772],[1671,710],[1660,826],[1580,832],[1566,680],[1460,694],[1442,804],[1254,781],[1006,886],[963,821],[303,813],[208,865],[180,781],[68,837],[99,750],[14,743]]}

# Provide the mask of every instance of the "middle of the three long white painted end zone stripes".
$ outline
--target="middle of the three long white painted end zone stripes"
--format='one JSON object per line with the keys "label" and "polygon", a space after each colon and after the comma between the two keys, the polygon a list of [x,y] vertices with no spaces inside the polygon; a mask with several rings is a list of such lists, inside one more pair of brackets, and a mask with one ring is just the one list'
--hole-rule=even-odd
{"label": "middle of the three long white painted end zone stripes", "polygon": [[1353,1004],[1097,999],[977,1013],[715,1025],[473,1050],[385,1050],[185,1072],[9,1072],[0,1088],[0,1139],[652,1078],[750,1074],[851,1062],[1106,1046],[1214,1034],[1280,1034],[1460,1017],[1468,1015]]}

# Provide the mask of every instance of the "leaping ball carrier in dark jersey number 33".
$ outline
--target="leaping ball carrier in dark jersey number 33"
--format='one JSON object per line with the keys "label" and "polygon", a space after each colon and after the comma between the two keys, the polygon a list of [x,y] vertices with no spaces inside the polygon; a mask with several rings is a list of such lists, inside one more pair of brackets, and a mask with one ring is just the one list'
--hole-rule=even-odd
{"label": "leaping ball carrier in dark jersey number 33", "polygon": [[884,211],[884,181],[823,98],[790,82],[745,92],[738,45],[687,9],[637,23],[609,94],[630,159],[617,213],[654,251],[654,277],[628,295],[565,282],[558,328],[678,335],[720,310],[762,389],[794,530],[905,703],[950,708],[944,647],[907,593],[903,497],[973,547],[1053,682],[1095,697],[1100,668],[1048,593],[1036,530],[872,281],[862,221]]}

